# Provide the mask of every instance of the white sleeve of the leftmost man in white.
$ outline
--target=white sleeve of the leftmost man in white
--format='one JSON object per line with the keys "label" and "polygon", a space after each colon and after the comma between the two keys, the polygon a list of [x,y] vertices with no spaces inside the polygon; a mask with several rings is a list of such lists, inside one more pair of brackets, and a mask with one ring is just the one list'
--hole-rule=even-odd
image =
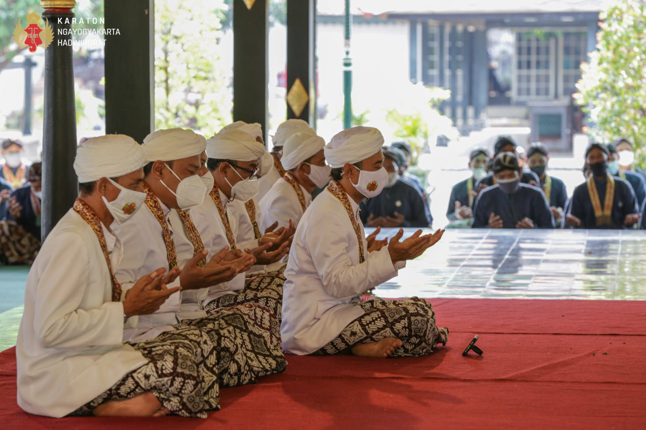
{"label": "white sleeve of the leftmost man in white", "polygon": [[[89,285],[92,265],[85,241],[74,232],[50,240],[54,241],[50,243],[52,249],[65,249],[65,252],[41,256],[37,263],[39,283],[34,297],[34,330],[41,345],[45,348],[120,345],[121,302],[79,309],[88,289],[98,287]],[[105,264],[104,261],[92,263]]]}

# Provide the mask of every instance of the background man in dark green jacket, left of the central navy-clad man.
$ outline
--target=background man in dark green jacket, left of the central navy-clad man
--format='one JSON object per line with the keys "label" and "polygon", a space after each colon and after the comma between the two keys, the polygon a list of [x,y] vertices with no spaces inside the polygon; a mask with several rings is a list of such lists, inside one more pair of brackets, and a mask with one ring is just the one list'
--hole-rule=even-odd
{"label": "background man in dark green jacket, left of the central navy-clad man", "polygon": [[459,181],[451,189],[448,209],[446,209],[446,218],[449,221],[471,220],[475,198],[474,190],[476,190],[475,183],[486,176],[488,161],[489,153],[485,148],[476,148],[469,154],[468,167],[471,170],[471,176],[464,181]]}

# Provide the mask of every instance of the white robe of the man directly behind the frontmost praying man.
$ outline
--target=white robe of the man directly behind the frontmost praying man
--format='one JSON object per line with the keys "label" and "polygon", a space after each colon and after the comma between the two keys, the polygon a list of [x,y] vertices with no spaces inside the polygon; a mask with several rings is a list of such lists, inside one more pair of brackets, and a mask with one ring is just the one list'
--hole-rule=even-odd
{"label": "white robe of the man directly behind the frontmost praying man", "polygon": [[[312,195],[302,185],[299,184],[298,187],[304,194],[307,209],[312,203]],[[278,179],[264,198],[260,200],[260,209],[262,210],[260,231],[264,231],[275,221],[278,221],[279,229],[280,227],[287,227],[289,220],[294,225],[298,225],[298,221],[303,216],[303,209],[300,206],[296,192],[289,185],[289,182],[283,178]]]}

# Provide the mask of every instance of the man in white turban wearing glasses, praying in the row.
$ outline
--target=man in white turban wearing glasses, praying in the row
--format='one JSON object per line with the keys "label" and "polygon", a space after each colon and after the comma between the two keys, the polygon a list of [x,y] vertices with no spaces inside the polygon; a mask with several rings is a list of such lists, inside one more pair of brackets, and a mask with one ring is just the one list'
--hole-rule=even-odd
{"label": "man in white turban wearing glasses, praying in the row", "polygon": [[[231,249],[251,252],[256,263],[268,265],[282,259],[289,250],[293,227],[266,231],[259,239],[238,240],[240,212],[245,214],[244,203],[257,192],[256,174],[264,145],[242,130],[224,130],[208,139],[207,168],[215,186],[209,197],[193,210],[196,227],[203,238],[211,238],[214,249],[229,246]],[[262,278],[262,279],[261,279]],[[282,272],[267,273],[261,278],[251,278],[245,287],[245,273],[241,272],[228,283],[210,289],[205,300],[207,311],[244,303],[260,303],[280,316],[282,300]],[[263,284],[267,280],[267,285]],[[253,285],[252,285],[253,284]],[[277,334],[277,333],[276,333]]]}

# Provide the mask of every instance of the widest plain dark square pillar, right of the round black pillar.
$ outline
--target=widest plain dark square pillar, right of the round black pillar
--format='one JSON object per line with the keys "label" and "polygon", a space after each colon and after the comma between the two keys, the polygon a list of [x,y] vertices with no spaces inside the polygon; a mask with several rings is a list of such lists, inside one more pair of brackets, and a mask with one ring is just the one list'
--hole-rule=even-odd
{"label": "widest plain dark square pillar, right of the round black pillar", "polygon": [[138,142],[154,130],[153,0],[105,2],[105,132]]}

